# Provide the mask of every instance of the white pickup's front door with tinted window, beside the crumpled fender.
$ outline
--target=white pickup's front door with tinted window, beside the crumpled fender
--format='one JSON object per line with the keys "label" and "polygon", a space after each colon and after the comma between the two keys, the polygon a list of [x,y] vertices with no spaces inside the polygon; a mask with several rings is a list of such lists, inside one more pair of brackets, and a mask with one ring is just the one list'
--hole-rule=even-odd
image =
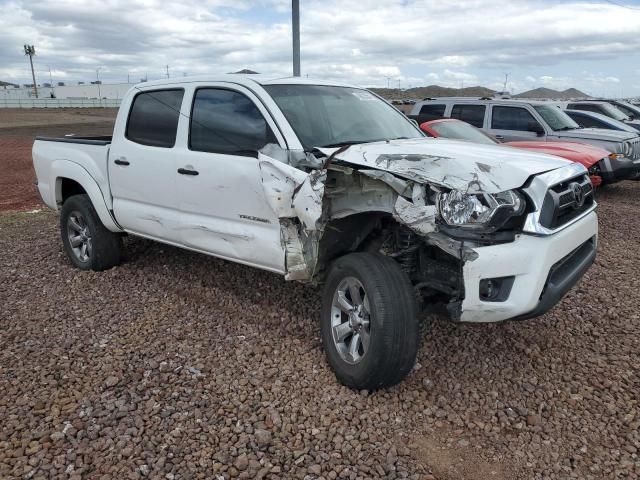
{"label": "white pickup's front door with tinted window, beside the crumpled fender", "polygon": [[248,89],[191,89],[191,118],[179,135],[185,142],[177,179],[182,244],[284,272],[280,222],[267,203],[257,158],[266,144],[285,147],[282,135]]}

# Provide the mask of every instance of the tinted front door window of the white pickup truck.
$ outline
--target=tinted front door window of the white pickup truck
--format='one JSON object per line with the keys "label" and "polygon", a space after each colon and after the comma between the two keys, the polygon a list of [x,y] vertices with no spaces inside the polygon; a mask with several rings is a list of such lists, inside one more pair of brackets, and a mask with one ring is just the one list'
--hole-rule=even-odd
{"label": "tinted front door window of the white pickup truck", "polygon": [[189,148],[199,152],[246,153],[277,143],[255,104],[221,88],[196,90],[189,126]]}

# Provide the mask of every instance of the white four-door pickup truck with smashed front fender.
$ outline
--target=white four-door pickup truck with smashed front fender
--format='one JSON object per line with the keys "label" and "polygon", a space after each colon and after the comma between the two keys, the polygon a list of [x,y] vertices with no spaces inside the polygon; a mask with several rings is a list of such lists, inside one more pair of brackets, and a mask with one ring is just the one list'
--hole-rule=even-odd
{"label": "white four-door pickup truck with smashed front fender", "polygon": [[535,317],[596,255],[581,165],[426,138],[336,83],[140,84],[113,137],[38,137],[33,161],[78,268],[117,265],[128,233],[324,284],[324,348],[354,388],[411,370],[418,305],[461,322]]}

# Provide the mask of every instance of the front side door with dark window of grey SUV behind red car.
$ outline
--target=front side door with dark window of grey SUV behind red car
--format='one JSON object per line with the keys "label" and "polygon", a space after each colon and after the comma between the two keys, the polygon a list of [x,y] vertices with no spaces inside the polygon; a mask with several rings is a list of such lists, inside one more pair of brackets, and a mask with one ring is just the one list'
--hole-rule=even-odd
{"label": "front side door with dark window of grey SUV behind red car", "polygon": [[542,124],[524,107],[492,105],[488,132],[500,142],[515,140],[543,140]]}

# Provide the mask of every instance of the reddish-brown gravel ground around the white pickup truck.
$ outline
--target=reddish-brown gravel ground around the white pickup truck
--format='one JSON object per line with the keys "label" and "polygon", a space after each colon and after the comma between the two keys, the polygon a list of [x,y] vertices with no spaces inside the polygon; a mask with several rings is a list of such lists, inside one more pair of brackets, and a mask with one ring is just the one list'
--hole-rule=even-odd
{"label": "reddish-brown gravel ground around the white pickup truck", "polygon": [[640,184],[599,202],[552,312],[425,315],[414,371],[372,393],[329,370],[316,288],[135,238],[81,272],[55,214],[1,213],[0,478],[638,478]]}

